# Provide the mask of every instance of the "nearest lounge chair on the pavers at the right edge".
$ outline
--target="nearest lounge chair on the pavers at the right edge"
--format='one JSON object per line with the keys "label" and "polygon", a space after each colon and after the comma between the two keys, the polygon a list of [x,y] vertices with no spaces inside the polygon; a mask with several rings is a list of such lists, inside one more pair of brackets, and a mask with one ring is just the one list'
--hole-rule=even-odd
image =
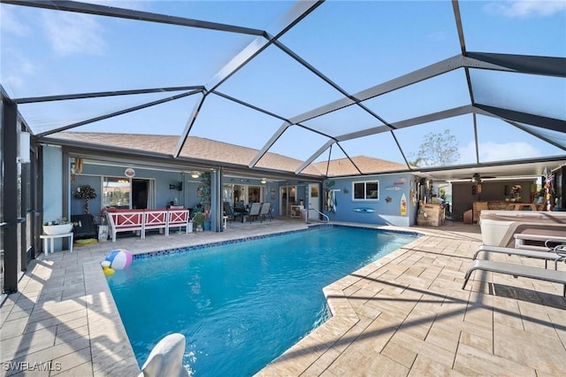
{"label": "nearest lounge chair on the pavers at the right edge", "polygon": [[562,296],[566,297],[566,271],[547,270],[546,268],[531,267],[528,265],[515,265],[513,263],[492,262],[491,260],[476,259],[465,274],[462,289],[466,288],[470,274],[476,270],[490,273],[506,273],[514,278],[521,276],[539,281],[551,281],[564,284]]}

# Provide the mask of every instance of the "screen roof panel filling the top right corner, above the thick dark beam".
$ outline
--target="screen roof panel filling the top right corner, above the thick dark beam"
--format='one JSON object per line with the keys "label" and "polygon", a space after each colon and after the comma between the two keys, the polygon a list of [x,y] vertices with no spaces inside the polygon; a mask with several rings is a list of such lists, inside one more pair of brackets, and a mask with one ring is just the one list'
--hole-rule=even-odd
{"label": "screen roof panel filling the top right corner, above the thick dark beam", "polygon": [[563,1],[460,1],[466,49],[566,57]]}

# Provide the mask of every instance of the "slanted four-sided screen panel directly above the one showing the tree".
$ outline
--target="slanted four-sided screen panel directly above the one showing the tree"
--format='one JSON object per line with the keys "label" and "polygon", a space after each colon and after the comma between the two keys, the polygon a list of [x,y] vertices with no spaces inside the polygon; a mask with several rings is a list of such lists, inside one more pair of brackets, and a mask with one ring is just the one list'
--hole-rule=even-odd
{"label": "slanted four-sided screen panel directly above the one showing the tree", "polygon": [[465,72],[458,69],[377,96],[363,104],[386,122],[393,123],[470,104],[470,93]]}

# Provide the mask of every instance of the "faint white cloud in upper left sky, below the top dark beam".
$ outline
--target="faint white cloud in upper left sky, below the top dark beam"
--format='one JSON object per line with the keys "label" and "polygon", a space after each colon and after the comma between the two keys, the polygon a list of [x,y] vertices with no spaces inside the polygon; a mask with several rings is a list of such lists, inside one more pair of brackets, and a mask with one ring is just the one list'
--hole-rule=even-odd
{"label": "faint white cloud in upper left sky, below the top dark beam", "polygon": [[92,16],[56,12],[43,17],[43,26],[57,54],[100,55],[106,49],[103,27]]}

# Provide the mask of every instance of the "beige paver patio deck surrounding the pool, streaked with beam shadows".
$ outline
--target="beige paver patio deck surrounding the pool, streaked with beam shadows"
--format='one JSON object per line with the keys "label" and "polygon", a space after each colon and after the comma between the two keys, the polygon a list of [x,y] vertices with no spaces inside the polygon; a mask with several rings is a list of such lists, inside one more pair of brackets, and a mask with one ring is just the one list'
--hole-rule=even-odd
{"label": "beige paver patio deck surrounding the pool, streaked with beam shadows", "polygon": [[[41,256],[0,308],[1,373],[139,373],[100,268],[110,250],[143,253],[302,227],[299,220],[234,223],[222,233],[123,238]],[[424,236],[326,287],[333,317],[258,375],[563,375],[561,285],[476,272],[463,290],[479,227],[409,230]]]}

